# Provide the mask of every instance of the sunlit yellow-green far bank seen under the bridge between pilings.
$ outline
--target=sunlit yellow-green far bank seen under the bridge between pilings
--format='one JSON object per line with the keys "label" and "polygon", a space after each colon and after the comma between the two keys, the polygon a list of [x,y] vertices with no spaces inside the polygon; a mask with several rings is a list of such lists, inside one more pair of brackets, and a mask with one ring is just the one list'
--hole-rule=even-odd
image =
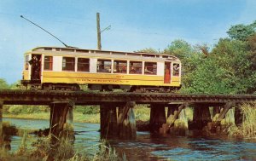
{"label": "sunlit yellow-green far bank seen under the bridge between pilings", "polygon": [[[136,119],[148,121],[150,109],[147,105],[137,105],[135,108]],[[4,106],[3,118],[42,119],[49,120],[49,107],[40,106]],[[73,109],[73,122],[75,123],[100,123],[99,106],[76,106]]]}

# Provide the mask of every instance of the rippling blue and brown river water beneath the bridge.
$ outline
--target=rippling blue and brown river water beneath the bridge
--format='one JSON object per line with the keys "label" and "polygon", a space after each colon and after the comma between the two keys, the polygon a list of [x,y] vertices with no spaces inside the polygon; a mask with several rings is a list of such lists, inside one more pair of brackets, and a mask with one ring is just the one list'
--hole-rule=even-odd
{"label": "rippling blue and brown river water beneath the bridge", "polygon": [[[49,127],[48,120],[25,120],[3,118],[19,128],[44,129]],[[91,155],[98,150],[100,124],[75,123],[75,147],[80,152]],[[35,140],[35,138],[34,138]],[[12,137],[11,147],[15,151],[21,138]],[[128,160],[256,160],[256,142],[230,140],[218,136],[200,135],[171,136],[151,135],[137,132],[135,141],[110,140],[119,154],[125,152]]]}

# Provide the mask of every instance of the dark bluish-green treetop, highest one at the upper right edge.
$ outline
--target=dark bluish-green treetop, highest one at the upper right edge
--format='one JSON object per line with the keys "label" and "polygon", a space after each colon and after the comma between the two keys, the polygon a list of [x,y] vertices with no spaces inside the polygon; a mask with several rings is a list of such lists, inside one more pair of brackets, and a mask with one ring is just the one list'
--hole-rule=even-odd
{"label": "dark bluish-green treetop, highest one at the upper right edge", "polygon": [[252,36],[255,33],[256,29],[256,20],[250,25],[238,24],[236,26],[231,26],[228,35],[236,40],[245,41],[248,37]]}

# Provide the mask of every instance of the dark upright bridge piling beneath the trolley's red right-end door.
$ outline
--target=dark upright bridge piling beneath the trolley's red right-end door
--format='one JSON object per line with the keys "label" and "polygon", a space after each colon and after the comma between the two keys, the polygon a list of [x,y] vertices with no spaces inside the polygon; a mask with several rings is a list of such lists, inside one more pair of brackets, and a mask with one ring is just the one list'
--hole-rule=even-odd
{"label": "dark upright bridge piling beneath the trolley's red right-end door", "polygon": [[[160,128],[163,127],[163,124],[166,124],[165,105],[150,104],[149,130],[151,132],[159,133]],[[164,127],[164,128],[166,128],[166,127]]]}

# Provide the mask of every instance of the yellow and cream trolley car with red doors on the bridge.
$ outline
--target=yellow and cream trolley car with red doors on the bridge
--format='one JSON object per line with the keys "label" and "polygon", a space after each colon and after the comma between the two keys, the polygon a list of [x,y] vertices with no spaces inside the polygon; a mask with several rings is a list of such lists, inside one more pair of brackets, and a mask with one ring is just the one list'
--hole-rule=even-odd
{"label": "yellow and cream trolley car with red doors on the bridge", "polygon": [[172,91],[181,87],[181,62],[172,55],[38,47],[25,53],[26,87],[79,90]]}

